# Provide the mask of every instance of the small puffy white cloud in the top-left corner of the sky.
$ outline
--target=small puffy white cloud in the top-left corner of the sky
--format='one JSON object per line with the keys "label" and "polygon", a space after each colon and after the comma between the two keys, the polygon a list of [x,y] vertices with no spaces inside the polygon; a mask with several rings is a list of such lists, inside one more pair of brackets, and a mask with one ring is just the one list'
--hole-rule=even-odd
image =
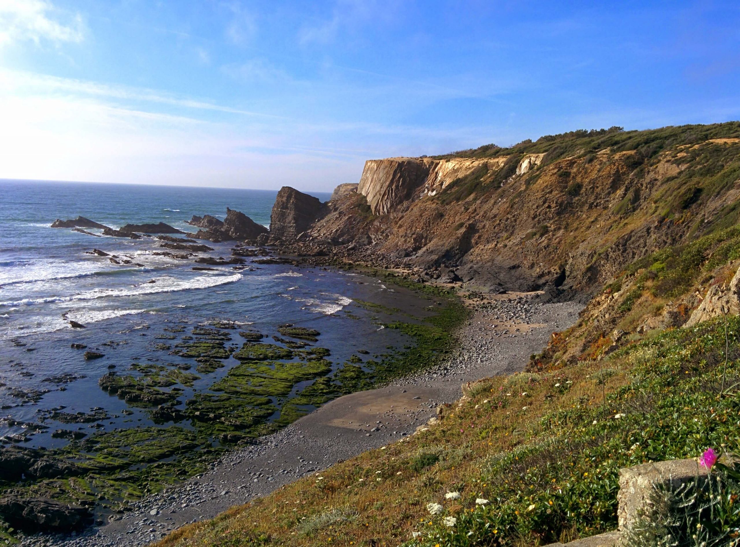
{"label": "small puffy white cloud in the top-left corner of the sky", "polygon": [[57,13],[44,0],[0,0],[0,47],[19,41],[81,42],[84,38],[81,16],[70,16],[70,21],[63,24],[53,18]]}

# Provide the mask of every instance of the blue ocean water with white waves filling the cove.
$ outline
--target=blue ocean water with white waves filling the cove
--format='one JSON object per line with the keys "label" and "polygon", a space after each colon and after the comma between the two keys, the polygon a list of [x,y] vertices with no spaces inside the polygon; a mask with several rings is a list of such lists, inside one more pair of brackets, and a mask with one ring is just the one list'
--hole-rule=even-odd
{"label": "blue ocean water with white waves filling the cove", "polygon": [[[385,325],[398,316],[428,315],[429,302],[380,279],[330,268],[256,265],[251,259],[248,268],[194,271],[192,259],[153,254],[161,243],[153,237],[93,237],[50,228],[57,218],[81,215],[112,228],[161,221],[197,231],[186,220],[203,214],[223,219],[226,207],[268,226],[276,194],[0,180],[0,442],[59,447],[69,442],[70,431],[82,437],[132,427],[192,427],[184,418],[152,420],[152,405],[126,401],[102,390],[99,381],[111,371],[144,378],[147,386],[158,381],[157,393],[177,390],[177,400],[168,404],[185,411],[196,395],[215,393],[218,381],[240,365],[229,356],[215,370],[198,367],[196,373],[198,363],[178,355],[178,347],[214,325],[221,329],[218,336],[206,339],[235,348],[244,342],[239,330],[262,334],[272,347],[294,349],[307,342],[282,338],[280,325],[315,330],[317,341],[308,347],[331,352],[326,361],[332,372],[348,361],[364,367],[367,356],[382,359],[388,350],[408,347],[400,330]],[[215,250],[201,256],[227,257],[234,245],[205,243]],[[90,254],[93,248],[132,263],[115,265],[107,256]],[[85,328],[71,328],[70,320]],[[104,357],[84,359],[73,344]],[[295,359],[305,361],[299,353]],[[295,364],[295,359],[285,361]],[[189,370],[186,380],[182,370]],[[271,396],[272,407],[259,407],[274,408],[266,419],[278,420],[286,401],[313,381],[296,378],[289,394]],[[313,408],[304,404],[298,410]],[[54,435],[59,431],[66,436]]]}

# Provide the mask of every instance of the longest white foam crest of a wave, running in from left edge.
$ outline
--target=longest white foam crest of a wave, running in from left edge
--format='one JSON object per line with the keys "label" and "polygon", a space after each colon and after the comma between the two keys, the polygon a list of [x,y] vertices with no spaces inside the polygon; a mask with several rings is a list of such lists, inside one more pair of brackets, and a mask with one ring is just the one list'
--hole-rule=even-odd
{"label": "longest white foam crest of a wave, running in from left edge", "polygon": [[156,294],[156,293],[173,293],[176,291],[189,291],[192,289],[204,289],[211,287],[218,287],[218,285],[224,285],[226,283],[232,283],[242,278],[241,274],[234,274],[230,276],[198,276],[192,279],[174,279],[169,276],[163,276],[155,278],[155,284],[146,283],[139,285],[134,288],[117,288],[117,289],[95,289],[94,291],[86,291],[84,293],[75,294],[73,296],[47,296],[46,298],[30,299],[24,298],[21,300],[10,300],[8,302],[0,302],[0,308],[6,306],[30,306],[38,304],[47,304],[51,302],[76,302],[80,300],[95,300],[100,298],[114,298],[121,296],[141,296],[144,294]]}

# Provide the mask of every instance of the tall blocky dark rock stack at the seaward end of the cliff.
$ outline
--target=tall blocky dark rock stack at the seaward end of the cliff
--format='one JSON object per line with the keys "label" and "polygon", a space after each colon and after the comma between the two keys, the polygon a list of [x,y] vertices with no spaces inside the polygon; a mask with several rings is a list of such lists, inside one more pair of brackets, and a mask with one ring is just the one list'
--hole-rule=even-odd
{"label": "tall blocky dark rock stack at the seaward end of the cliff", "polygon": [[277,192],[275,205],[270,214],[270,237],[293,241],[298,234],[306,231],[324,211],[324,205],[317,197],[303,194],[290,186],[283,186]]}

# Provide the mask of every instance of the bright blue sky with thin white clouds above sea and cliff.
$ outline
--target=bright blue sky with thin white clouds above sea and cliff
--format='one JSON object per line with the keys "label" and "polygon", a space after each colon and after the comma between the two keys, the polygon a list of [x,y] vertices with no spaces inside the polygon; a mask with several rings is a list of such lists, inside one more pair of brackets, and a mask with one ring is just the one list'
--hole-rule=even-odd
{"label": "bright blue sky with thin white clouds above sea and cliff", "polygon": [[0,178],[331,191],[740,119],[737,1],[0,0]]}

